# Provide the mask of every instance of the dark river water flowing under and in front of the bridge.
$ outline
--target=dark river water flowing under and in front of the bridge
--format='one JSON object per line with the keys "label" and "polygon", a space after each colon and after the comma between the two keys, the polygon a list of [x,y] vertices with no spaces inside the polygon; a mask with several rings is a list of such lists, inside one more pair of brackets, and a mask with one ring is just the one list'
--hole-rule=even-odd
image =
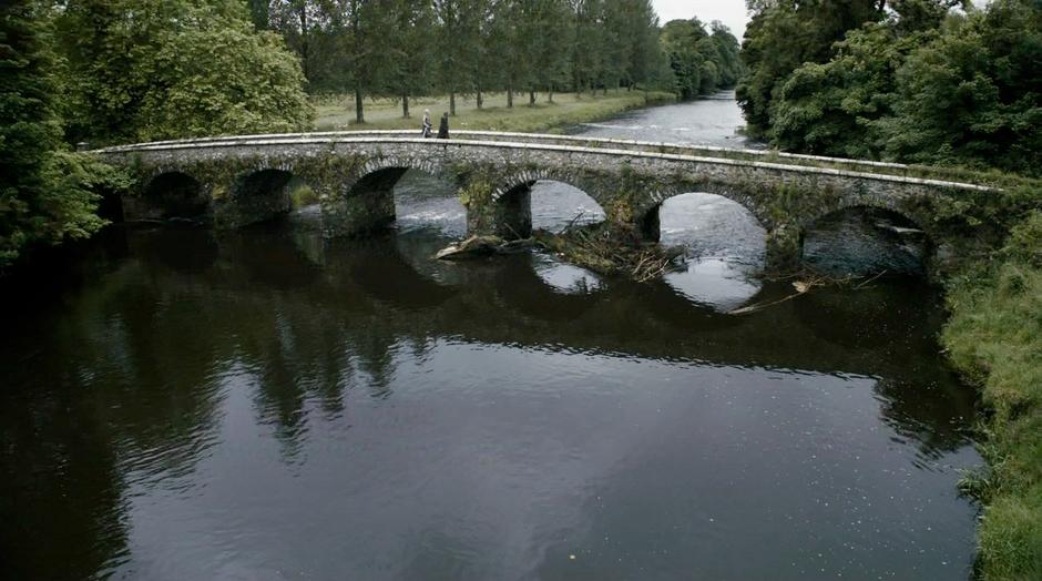
{"label": "dark river water flowing under and in front of the bridge", "polygon": [[[742,146],[738,124],[722,98],[580,131]],[[723,198],[667,202],[688,263],[645,285],[431,261],[463,208],[422,174],[396,201],[372,239],[323,241],[315,208],[116,226],[9,282],[0,577],[969,577],[974,395],[930,287],[728,315],[791,288],[752,276],[763,231]],[[601,215],[556,183],[532,204]],[[865,252],[841,231],[808,236],[819,262]]]}

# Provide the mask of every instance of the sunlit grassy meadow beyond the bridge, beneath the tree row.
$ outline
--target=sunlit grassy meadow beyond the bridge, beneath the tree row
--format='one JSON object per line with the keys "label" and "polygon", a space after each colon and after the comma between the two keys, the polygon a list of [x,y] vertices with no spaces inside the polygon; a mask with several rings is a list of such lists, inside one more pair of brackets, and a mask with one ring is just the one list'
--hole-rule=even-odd
{"label": "sunlit grassy meadow beyond the bridge, beneath the tree row", "polygon": [[[566,125],[589,123],[607,119],[623,111],[648,104],[667,103],[675,100],[672,93],[643,91],[609,91],[606,95],[581,96],[574,93],[556,93],[553,103],[545,93],[539,93],[534,106],[528,104],[528,94],[514,98],[514,105],[507,106],[505,93],[484,95],[482,109],[478,109],[473,96],[457,96],[457,115],[449,121],[451,130],[546,132]],[[420,132],[423,110],[430,109],[435,131],[438,119],[449,110],[449,98],[420,98],[409,103],[409,119],[401,116],[401,103],[389,99],[366,100],[366,123],[355,123],[355,101],[350,95],[327,96],[316,100],[315,129],[336,130],[392,130],[413,129]]]}

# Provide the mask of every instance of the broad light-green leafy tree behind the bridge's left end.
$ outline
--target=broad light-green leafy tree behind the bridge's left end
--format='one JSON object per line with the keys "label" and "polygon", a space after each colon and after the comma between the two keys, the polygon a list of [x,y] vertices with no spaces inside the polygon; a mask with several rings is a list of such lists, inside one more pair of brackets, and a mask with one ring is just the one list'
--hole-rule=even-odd
{"label": "broad light-green leafy tree behind the bridge's left end", "polygon": [[297,60],[239,0],[69,0],[59,17],[73,140],[305,130]]}

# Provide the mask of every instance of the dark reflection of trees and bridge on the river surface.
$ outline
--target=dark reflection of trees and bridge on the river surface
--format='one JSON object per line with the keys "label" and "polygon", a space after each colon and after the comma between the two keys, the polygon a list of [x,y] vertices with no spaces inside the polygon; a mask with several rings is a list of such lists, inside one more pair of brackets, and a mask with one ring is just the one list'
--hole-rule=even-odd
{"label": "dark reflection of trees and bridge on the river surface", "polygon": [[[90,577],[125,550],[124,489],[195,469],[233,371],[254,381],[257,421],[287,461],[309,421],[339,416],[351,389],[395,397],[399,358],[423,361],[445,338],[879,377],[885,420],[927,453],[960,446],[952,426],[972,410],[938,363],[936,315],[899,288],[727,317],[667,285],[563,296],[524,257],[453,266],[464,284],[447,287],[394,238],[324,247],[318,268],[279,236],[185,231],[173,242],[212,254],[174,264],[154,253],[167,243],[131,233],[118,271],[49,307],[51,319],[4,330],[0,541],[16,572]],[[47,348],[24,359],[30,345]]]}

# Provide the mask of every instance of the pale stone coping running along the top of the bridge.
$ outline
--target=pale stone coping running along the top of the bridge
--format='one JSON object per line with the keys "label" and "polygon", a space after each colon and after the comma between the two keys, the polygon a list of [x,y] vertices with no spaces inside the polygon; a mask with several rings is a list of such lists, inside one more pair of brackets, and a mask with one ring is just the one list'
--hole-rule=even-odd
{"label": "pale stone coping running along the top of the bridge", "polygon": [[[123,145],[118,147],[108,147],[103,150],[95,150],[95,153],[100,154],[129,154],[136,152],[163,152],[163,151],[191,151],[191,150],[215,150],[215,149],[227,149],[227,147],[258,147],[258,146],[282,146],[282,145],[320,145],[320,144],[380,144],[380,143],[395,143],[395,144],[413,144],[421,145],[427,147],[448,147],[448,146],[468,146],[468,147],[497,147],[504,150],[530,150],[530,151],[549,151],[558,153],[586,153],[594,155],[607,155],[607,156],[617,156],[617,157],[641,157],[641,159],[657,159],[657,160],[667,160],[674,162],[691,162],[691,163],[704,163],[704,164],[719,164],[719,165],[731,165],[737,167],[755,167],[763,170],[774,170],[780,172],[789,173],[801,173],[801,174],[818,174],[818,175],[834,175],[842,176],[850,179],[859,180],[871,180],[880,182],[890,182],[890,183],[903,183],[903,184],[915,184],[915,185],[929,185],[936,187],[947,187],[952,190],[963,190],[963,191],[978,191],[978,192],[1001,192],[1001,190],[959,182],[947,182],[942,180],[929,180],[922,177],[910,177],[905,175],[891,175],[891,174],[877,174],[868,172],[856,172],[849,170],[837,170],[832,167],[817,167],[808,165],[787,165],[780,163],[770,163],[770,162],[759,162],[750,160],[738,160],[732,157],[708,157],[701,155],[683,155],[675,153],[661,153],[661,152],[651,152],[642,150],[614,150],[614,149],[600,149],[600,147],[585,147],[585,146],[564,146],[556,144],[546,144],[546,143],[521,143],[521,142],[500,142],[500,141],[480,141],[480,140],[432,140],[423,137],[380,137],[377,135],[400,135],[409,134],[415,132],[374,132],[365,134],[362,132],[326,132],[326,133],[296,133],[296,134],[268,134],[268,135],[246,135],[239,137],[208,137],[200,140],[181,140],[181,141],[167,141],[167,142],[153,142],[144,143],[139,145]],[[459,133],[459,132],[458,132]],[[489,136],[494,135],[504,135],[494,132],[487,132]],[[361,135],[361,136],[359,136]],[[525,137],[544,137],[544,135],[539,134],[529,134],[529,133],[519,133],[513,135],[523,135]],[[550,137],[563,137],[569,139],[568,136],[556,135]],[[576,141],[589,141],[584,139],[578,139]],[[633,142],[639,143],[639,142]],[[683,149],[683,146],[682,146]],[[724,151],[744,151],[744,150],[726,150]],[[695,150],[697,151],[697,150]]]}

